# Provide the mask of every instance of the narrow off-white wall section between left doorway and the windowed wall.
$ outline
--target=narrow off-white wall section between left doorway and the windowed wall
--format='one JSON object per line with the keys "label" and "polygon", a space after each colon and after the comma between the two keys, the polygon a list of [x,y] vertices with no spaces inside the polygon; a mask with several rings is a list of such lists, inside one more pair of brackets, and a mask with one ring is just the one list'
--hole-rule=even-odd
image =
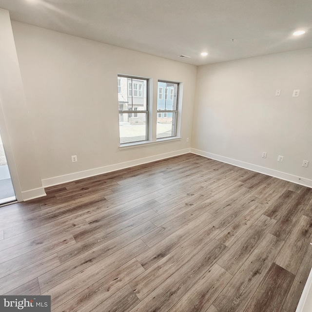
{"label": "narrow off-white wall section between left doorway and the windowed wall", "polygon": [[0,128],[18,199],[44,195],[9,12],[0,9]]}

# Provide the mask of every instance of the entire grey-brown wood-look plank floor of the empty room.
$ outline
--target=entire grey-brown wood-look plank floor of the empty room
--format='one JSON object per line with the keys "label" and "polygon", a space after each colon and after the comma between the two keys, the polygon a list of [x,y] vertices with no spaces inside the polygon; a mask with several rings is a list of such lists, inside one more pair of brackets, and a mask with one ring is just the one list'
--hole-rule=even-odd
{"label": "entire grey-brown wood-look plank floor of the empty room", "polygon": [[294,312],[312,189],[193,154],[0,208],[0,294],[54,312]]}

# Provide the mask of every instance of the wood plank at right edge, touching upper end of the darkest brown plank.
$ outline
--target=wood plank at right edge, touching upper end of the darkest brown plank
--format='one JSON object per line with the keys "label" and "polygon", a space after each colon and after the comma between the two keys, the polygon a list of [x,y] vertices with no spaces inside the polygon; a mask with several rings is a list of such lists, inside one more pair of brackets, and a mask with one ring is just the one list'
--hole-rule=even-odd
{"label": "wood plank at right edge, touching upper end of the darkest brown plank", "polygon": [[302,258],[310,246],[312,234],[312,219],[302,215],[292,229],[282,250],[276,257],[276,264],[296,274]]}

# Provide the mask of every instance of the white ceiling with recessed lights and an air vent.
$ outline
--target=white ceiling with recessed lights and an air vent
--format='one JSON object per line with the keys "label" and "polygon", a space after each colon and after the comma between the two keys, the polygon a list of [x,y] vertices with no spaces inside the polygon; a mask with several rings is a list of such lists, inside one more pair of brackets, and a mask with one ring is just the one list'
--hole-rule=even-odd
{"label": "white ceiling with recessed lights and an air vent", "polygon": [[[0,0],[0,8],[12,20],[195,65],[312,48],[312,0]],[[292,36],[298,29],[306,34]]]}

